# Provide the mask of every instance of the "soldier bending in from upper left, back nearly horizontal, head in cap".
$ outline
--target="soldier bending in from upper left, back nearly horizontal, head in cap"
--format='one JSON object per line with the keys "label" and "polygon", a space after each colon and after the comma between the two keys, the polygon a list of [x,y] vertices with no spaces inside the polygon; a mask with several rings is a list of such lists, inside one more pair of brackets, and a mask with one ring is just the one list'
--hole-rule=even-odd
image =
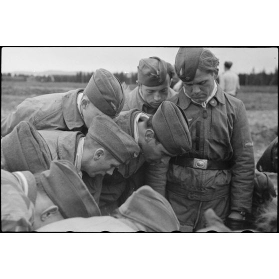
{"label": "soldier bending in from upper left, back nearly horizontal, head in cap", "polygon": [[115,117],[122,109],[124,95],[119,80],[108,70],[97,69],[85,88],[26,98],[14,112],[1,119],[1,136],[21,120],[37,130],[69,130],[86,133],[92,118],[106,114]]}

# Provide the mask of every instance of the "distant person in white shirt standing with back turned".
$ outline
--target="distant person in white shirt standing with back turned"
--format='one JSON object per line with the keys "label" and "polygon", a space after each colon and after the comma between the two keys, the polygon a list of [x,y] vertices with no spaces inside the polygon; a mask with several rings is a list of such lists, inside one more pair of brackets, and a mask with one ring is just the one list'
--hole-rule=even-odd
{"label": "distant person in white shirt standing with back turned", "polygon": [[224,62],[224,72],[219,76],[220,87],[232,96],[236,96],[237,90],[240,89],[238,75],[231,71],[232,62]]}

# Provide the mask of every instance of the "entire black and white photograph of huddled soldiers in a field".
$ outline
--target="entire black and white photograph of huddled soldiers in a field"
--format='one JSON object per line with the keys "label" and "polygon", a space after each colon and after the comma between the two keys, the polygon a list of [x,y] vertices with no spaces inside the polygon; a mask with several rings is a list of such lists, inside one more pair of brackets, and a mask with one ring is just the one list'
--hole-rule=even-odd
{"label": "entire black and white photograph of huddled soldiers in a field", "polygon": [[277,232],[277,47],[1,48],[2,232]]}

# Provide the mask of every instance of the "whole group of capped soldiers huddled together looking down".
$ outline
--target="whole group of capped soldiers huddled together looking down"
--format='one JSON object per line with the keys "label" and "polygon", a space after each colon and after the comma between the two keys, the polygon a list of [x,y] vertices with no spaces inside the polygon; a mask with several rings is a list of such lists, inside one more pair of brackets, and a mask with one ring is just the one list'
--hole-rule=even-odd
{"label": "whole group of capped soldiers huddled together looking down", "polygon": [[25,99],[1,119],[2,231],[202,231],[208,210],[253,229],[256,197],[276,192],[218,64],[181,47],[174,67],[141,59],[132,91],[100,68],[85,88]]}

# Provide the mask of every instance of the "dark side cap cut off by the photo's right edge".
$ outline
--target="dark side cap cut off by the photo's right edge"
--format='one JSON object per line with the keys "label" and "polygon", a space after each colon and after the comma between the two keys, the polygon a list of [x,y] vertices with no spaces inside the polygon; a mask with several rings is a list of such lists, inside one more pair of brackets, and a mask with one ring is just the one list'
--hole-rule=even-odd
{"label": "dark side cap cut off by the photo's right edge", "polygon": [[256,163],[258,171],[277,172],[278,167],[278,137],[274,138],[266,147]]}

